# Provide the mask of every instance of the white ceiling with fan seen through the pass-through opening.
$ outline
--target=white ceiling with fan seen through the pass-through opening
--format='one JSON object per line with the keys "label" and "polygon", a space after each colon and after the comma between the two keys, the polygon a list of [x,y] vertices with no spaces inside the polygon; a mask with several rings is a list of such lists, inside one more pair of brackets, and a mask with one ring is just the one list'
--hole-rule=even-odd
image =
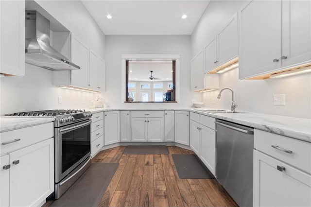
{"label": "white ceiling with fan seen through the pass-through opening", "polygon": [[[128,79],[143,82],[172,81],[172,64],[172,61],[129,61]],[[156,78],[153,81],[149,79],[150,70],[153,71],[152,76]]]}

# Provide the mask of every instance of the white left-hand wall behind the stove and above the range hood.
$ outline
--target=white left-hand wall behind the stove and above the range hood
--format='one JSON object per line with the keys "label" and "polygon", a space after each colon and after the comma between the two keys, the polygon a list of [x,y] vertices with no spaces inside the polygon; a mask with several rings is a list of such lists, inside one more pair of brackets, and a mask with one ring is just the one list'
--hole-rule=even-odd
{"label": "white left-hand wall behind the stove and above the range hood", "polygon": [[[104,57],[105,37],[81,1],[37,1],[47,12]],[[88,108],[92,93],[52,86],[52,71],[26,64],[24,77],[0,79],[0,115],[45,109]],[[58,104],[58,96],[62,104]]]}

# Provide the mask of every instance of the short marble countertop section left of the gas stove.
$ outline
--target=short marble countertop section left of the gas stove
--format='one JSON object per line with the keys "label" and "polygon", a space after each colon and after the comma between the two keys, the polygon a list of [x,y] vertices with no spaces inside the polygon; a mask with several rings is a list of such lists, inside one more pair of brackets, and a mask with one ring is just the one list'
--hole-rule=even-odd
{"label": "short marble countertop section left of the gas stove", "polygon": [[35,126],[55,121],[53,117],[0,117],[0,132]]}

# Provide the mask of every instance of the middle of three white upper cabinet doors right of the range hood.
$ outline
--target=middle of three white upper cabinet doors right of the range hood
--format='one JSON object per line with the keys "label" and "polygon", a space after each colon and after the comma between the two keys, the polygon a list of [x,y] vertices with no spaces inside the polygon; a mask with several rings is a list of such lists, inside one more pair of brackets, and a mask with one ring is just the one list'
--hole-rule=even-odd
{"label": "middle of three white upper cabinet doors right of the range hood", "polygon": [[92,50],[89,52],[89,87],[98,90],[99,57]]}

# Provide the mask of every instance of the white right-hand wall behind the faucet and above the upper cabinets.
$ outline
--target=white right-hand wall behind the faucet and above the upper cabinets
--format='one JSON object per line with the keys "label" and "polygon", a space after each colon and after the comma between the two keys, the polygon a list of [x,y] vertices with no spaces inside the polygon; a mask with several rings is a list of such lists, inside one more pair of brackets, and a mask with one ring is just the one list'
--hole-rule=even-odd
{"label": "white right-hand wall behind the faucet and above the upper cabinets", "polygon": [[[244,1],[211,1],[191,35],[192,56],[207,45]],[[237,110],[281,116],[311,118],[311,74],[266,80],[239,80],[239,69],[220,75],[220,88],[235,92]],[[218,91],[202,94],[204,106],[230,110],[231,92],[218,100]],[[285,106],[273,105],[273,94],[285,94]]]}

